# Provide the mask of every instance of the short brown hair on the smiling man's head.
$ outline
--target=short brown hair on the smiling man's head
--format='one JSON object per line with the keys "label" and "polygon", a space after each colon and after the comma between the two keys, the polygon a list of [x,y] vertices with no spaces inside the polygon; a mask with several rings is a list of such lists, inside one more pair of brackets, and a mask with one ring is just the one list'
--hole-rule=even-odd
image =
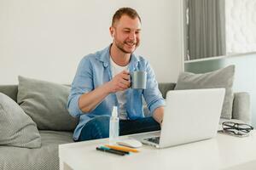
{"label": "short brown hair on the smiling man's head", "polygon": [[123,7],[123,8],[119,8],[114,14],[113,14],[113,18],[112,18],[112,26],[118,21],[120,20],[120,18],[123,15],[128,15],[131,19],[136,19],[138,18],[141,21],[141,17],[139,16],[139,14],[137,14],[137,11],[133,8],[129,8],[129,7]]}

